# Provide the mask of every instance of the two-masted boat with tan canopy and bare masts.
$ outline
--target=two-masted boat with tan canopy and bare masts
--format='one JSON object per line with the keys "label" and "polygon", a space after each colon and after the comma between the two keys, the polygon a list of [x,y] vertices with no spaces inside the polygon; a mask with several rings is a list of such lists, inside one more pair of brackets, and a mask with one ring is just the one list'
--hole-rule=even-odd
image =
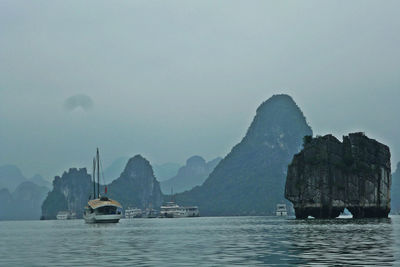
{"label": "two-masted boat with tan canopy and bare masts", "polygon": [[[97,167],[97,194],[96,194]],[[107,187],[106,192],[107,193]],[[85,206],[83,218],[86,223],[117,223],[122,217],[122,206],[118,201],[100,195],[100,156],[97,148],[93,159],[93,199]]]}

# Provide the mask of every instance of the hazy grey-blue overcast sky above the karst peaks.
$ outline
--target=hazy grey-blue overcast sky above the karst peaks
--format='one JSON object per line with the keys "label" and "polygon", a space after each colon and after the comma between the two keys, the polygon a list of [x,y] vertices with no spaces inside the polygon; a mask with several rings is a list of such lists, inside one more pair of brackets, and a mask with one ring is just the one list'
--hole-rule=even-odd
{"label": "hazy grey-blue overcast sky above the karst peaks", "polygon": [[225,156],[288,93],[400,160],[400,1],[0,1],[0,164]]}

